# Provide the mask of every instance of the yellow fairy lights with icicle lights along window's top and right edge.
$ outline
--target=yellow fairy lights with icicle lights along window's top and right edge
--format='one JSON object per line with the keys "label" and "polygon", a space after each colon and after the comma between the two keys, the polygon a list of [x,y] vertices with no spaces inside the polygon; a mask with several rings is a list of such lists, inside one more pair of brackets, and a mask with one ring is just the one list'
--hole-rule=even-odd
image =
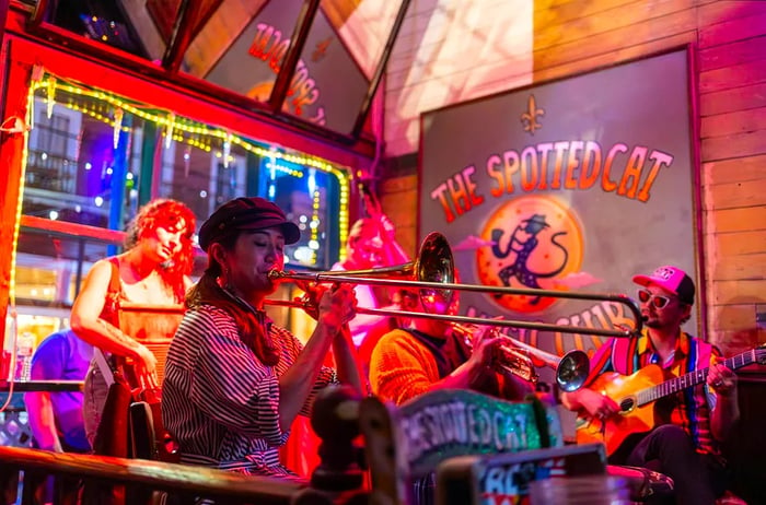
{"label": "yellow fairy lights with icicle lights along window's top and right edge", "polygon": [[[44,96],[37,94],[43,90]],[[57,92],[66,94],[57,99]],[[187,144],[192,148],[200,149],[205,152],[211,152],[213,144],[220,143],[221,150],[214,155],[223,160],[224,165],[228,165],[232,160],[232,146],[239,146],[242,150],[253,153],[257,156],[268,160],[267,166],[271,169],[288,174],[292,177],[302,178],[306,176],[306,171],[313,173],[314,169],[324,172],[337,178],[339,187],[339,212],[337,214],[336,230],[339,231],[340,257],[345,257],[345,244],[347,239],[347,228],[349,219],[349,186],[350,177],[347,172],[334,166],[316,156],[311,156],[302,153],[285,152],[276,146],[268,146],[249,139],[240,137],[224,128],[213,127],[206,124],[200,124],[188,118],[178,117],[172,110],[162,110],[149,108],[141,104],[130,102],[126,98],[104,92],[102,90],[91,89],[79,83],[67,82],[54,75],[46,74],[42,79],[33,81],[30,85],[30,107],[34,106],[34,97],[43,98],[46,104],[48,117],[51,116],[54,106],[59,104],[72,110],[85,114],[93,119],[111,125],[114,129],[114,144],[117,148],[120,132],[130,132],[132,129],[125,124],[126,114],[132,115],[156,125],[158,129],[162,130],[164,137],[165,149],[171,146],[171,141]],[[78,97],[82,96],[80,101]],[[88,98],[88,99],[84,99]],[[28,116],[28,125],[32,124],[34,115]],[[279,162],[287,162],[280,164]],[[311,185],[310,185],[311,186]],[[322,209],[321,191],[315,187],[310,187],[310,196],[312,198],[312,216],[309,222],[310,247],[316,250],[318,247],[320,234],[320,211]],[[314,258],[315,259],[315,252]]]}

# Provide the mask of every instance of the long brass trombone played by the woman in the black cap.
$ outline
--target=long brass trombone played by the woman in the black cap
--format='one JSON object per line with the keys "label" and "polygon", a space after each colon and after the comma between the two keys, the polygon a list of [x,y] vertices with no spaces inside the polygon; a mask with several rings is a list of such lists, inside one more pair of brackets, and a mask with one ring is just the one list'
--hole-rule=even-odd
{"label": "long brass trombone played by the woman in the black cap", "polygon": [[[385,277],[399,279],[385,279]],[[446,322],[466,325],[487,325],[504,328],[525,328],[541,331],[560,331],[562,333],[588,333],[599,337],[630,338],[640,333],[643,327],[641,310],[636,302],[624,294],[582,293],[573,291],[536,290],[525,287],[500,287],[479,284],[455,283],[455,266],[452,249],[444,235],[431,232],[420,245],[415,261],[394,267],[369,270],[325,271],[325,272],[285,272],[271,270],[268,273],[272,281],[292,280],[304,282],[348,282],[352,284],[381,285],[390,287],[411,287],[420,290],[420,301],[426,313],[407,310],[387,310],[383,308],[358,307],[359,314],[380,316],[421,317]],[[403,278],[416,279],[408,281]],[[630,312],[634,326],[630,328],[585,328],[581,326],[554,325],[549,322],[523,321],[513,319],[487,319],[484,317],[457,316],[445,314],[454,297],[454,291],[469,291],[487,294],[522,294],[549,296],[556,298],[593,300],[614,302],[625,305]],[[305,308],[305,304],[294,302],[266,301],[269,305],[281,305]]]}

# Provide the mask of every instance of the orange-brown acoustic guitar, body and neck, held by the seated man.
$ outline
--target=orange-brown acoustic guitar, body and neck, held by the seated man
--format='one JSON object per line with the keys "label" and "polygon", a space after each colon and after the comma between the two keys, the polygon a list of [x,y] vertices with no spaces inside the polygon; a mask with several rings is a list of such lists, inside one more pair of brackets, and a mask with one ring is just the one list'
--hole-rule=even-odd
{"label": "orange-brown acoustic guitar, body and neck, held by the seated man", "polygon": [[[721,362],[730,369],[753,363],[766,364],[766,345]],[[576,432],[577,443],[603,442],[606,445],[606,454],[612,456],[628,436],[647,433],[654,427],[657,400],[704,384],[708,369],[696,369],[668,380],[664,380],[665,375],[658,365],[645,366],[632,375],[620,375],[616,372],[600,375],[589,388],[612,398],[619,406],[619,412],[605,420],[582,420]]]}

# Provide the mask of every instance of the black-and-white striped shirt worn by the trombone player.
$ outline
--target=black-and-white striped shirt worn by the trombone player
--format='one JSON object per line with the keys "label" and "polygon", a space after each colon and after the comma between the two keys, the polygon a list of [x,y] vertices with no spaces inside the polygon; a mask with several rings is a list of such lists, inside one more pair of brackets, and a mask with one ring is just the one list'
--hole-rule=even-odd
{"label": "black-and-white striped shirt worn by the trombone player", "polygon": [[[186,314],[167,353],[162,419],[182,462],[292,479],[278,455],[289,435],[279,425],[279,377],[303,345],[256,314],[280,350],[276,366],[265,366],[240,340],[225,310],[202,305]],[[335,371],[323,367],[301,414],[309,415],[316,394],[336,381]]]}

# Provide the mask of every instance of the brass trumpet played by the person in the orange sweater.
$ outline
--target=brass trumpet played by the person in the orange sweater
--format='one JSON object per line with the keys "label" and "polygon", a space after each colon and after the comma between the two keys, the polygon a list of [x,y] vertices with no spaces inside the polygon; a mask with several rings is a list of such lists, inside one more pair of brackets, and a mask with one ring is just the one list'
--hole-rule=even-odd
{"label": "brass trumpet played by the person in the orange sweater", "polygon": [[[461,325],[460,322],[451,322],[450,326],[453,331],[465,339],[468,347],[473,348],[473,340],[478,331],[477,326]],[[545,366],[556,371],[556,384],[567,392],[578,390],[588,378],[590,360],[583,351],[574,349],[558,357],[500,332],[497,328],[494,331],[510,344],[500,347],[501,354],[497,366],[501,372],[513,374],[529,383],[537,384],[539,375],[534,363],[534,360],[537,360]]]}

